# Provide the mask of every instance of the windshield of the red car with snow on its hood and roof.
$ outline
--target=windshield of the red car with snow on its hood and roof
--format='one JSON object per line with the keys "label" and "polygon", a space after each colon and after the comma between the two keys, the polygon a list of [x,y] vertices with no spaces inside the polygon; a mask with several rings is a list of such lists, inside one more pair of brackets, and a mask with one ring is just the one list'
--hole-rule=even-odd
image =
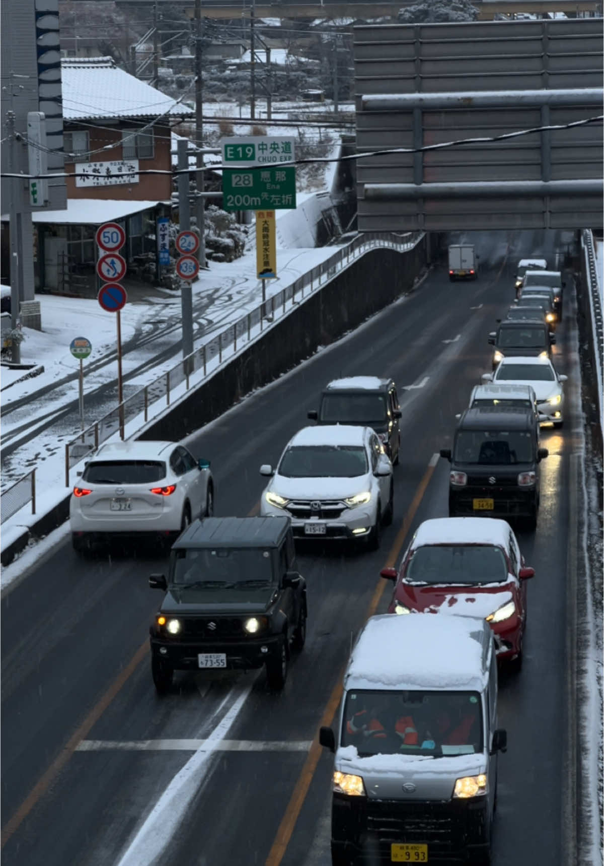
{"label": "windshield of the red car with snow on its hood and roof", "polygon": [[405,571],[405,582],[411,584],[498,584],[507,579],[504,552],[492,545],[418,547]]}

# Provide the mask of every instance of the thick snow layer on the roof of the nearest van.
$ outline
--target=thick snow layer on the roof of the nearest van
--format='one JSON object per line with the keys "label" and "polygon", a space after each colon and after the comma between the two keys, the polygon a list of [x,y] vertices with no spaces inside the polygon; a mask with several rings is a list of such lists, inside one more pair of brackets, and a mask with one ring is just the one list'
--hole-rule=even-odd
{"label": "thick snow layer on the roof of the nearest van", "polygon": [[480,691],[491,648],[484,619],[434,613],[370,617],[352,650],[345,688]]}

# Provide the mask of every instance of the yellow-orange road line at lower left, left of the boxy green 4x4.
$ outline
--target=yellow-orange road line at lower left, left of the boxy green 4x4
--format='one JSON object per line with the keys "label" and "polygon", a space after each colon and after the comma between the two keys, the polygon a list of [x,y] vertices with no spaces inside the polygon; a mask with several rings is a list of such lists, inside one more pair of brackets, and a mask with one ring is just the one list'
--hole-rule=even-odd
{"label": "yellow-orange road line at lower left, left of the boxy green 4x4", "polygon": [[40,779],[38,779],[32,790],[23,800],[22,804],[19,806],[12,818],[10,818],[8,823],[4,825],[2,830],[2,843],[0,844],[0,848],[4,847],[4,844],[9,841],[15,830],[17,830],[22,824],[22,821],[27,818],[29,812],[34,808],[38,800],[48,790],[48,787],[55,781],[62,768],[67,764],[67,761],[71,758],[72,754],[80,745],[80,742],[87,739],[87,734],[89,733],[93,725],[95,725],[96,722],[99,721],[100,716],[105,712],[109,704],[118,695],[120,689],[125,686],[125,683],[128,681],[130,676],[138,668],[140,662],[142,662],[145,656],[147,656],[148,654],[149,642],[145,641],[145,643],[142,643],[138,647],[138,650],[135,652],[134,656],[132,656],[131,661],[128,662],[125,668],[120,672],[119,676],[116,677],[116,679],[112,682],[109,688],[107,688],[105,695],[103,695],[100,698],[100,701],[95,704],[90,713],[87,715],[86,719],[81,723],[80,727],[78,727],[74,734],[72,734],[72,736],[69,738],[69,740],[67,740],[67,743],[65,744],[65,746],[62,747],[61,752],[56,756],[55,760],[48,767],[48,770],[41,776]]}

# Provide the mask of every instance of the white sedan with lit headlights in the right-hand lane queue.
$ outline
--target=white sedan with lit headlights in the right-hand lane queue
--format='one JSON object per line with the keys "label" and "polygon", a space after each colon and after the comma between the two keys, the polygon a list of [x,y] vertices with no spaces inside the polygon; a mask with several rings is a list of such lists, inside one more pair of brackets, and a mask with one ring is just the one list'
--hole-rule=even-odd
{"label": "white sedan with lit headlights in the right-hand lane queue", "polygon": [[[530,385],[537,396],[537,409],[555,427],[564,420],[564,390],[567,376],[556,372],[549,358],[504,358],[493,373],[485,373],[483,382],[493,385]],[[542,421],[545,418],[541,419]]]}

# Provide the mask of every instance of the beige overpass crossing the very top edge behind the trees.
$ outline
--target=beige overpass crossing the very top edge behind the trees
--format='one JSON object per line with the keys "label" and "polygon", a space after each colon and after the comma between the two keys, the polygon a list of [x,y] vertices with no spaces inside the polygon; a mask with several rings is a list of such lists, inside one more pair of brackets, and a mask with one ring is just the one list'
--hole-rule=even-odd
{"label": "beige overpass crossing the very top edge behind the trees", "polygon": [[[179,6],[186,14],[193,18],[194,0],[157,0],[157,6],[161,9],[164,4]],[[256,18],[295,18],[301,20],[325,20],[343,19],[345,21],[367,21],[373,18],[392,17],[396,18],[398,11],[405,6],[410,6],[411,0],[400,0],[399,3],[384,3],[376,0],[371,3],[343,3],[341,0],[324,0],[324,3],[254,3],[254,17]],[[153,0],[116,0],[116,5],[121,7],[151,7]],[[479,10],[479,20],[492,21],[496,15],[517,15],[518,13],[530,13],[533,15],[546,15],[548,12],[563,12],[567,16],[579,17],[586,15],[601,15],[601,0],[476,0],[474,5]],[[252,3],[250,0],[241,0],[241,3],[228,3],[224,0],[203,0],[202,15],[205,18],[218,18],[233,20],[235,18],[249,18],[251,16]]]}

